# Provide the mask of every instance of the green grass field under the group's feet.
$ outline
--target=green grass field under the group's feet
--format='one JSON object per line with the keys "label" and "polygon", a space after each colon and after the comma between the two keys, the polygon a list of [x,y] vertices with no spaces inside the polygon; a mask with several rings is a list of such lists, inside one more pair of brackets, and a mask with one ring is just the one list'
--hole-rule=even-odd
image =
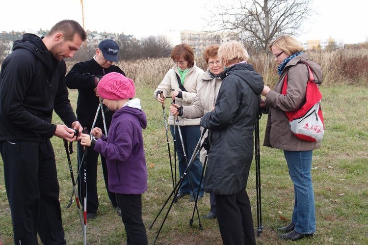
{"label": "green grass field under the group's feet", "polygon": [[[322,110],[326,132],[322,147],[314,151],[312,170],[317,232],[313,239],[302,239],[297,242],[284,242],[277,238],[277,227],[289,223],[291,218],[293,187],[282,151],[261,146],[262,224],[264,228],[261,236],[257,237],[257,243],[260,245],[368,244],[368,88],[335,85],[322,86],[321,91],[324,95]],[[161,224],[163,225],[156,244],[222,244],[217,220],[202,219],[202,216],[210,210],[209,194],[206,194],[198,203],[203,230],[199,229],[199,219],[196,213],[192,227],[189,226],[194,205],[188,201],[188,198],[173,204],[163,222],[171,199],[166,205],[164,203],[173,190],[163,111],[160,104],[153,99],[152,87],[137,86],[136,97],[141,99],[141,104],[148,117],[148,127],[144,130],[148,191],[143,194],[143,219],[149,244],[154,243]],[[75,106],[77,91],[70,91],[70,98]],[[166,114],[168,103],[166,101]],[[261,144],[266,119],[267,115],[263,115],[260,119]],[[57,116],[53,121],[60,123]],[[83,244],[77,207],[74,203],[71,208],[65,208],[72,193],[72,182],[63,141],[57,137],[53,137],[52,141],[58,168],[60,204],[67,243]],[[171,145],[173,145],[172,142]],[[74,169],[77,169],[75,157],[76,154],[72,154]],[[247,191],[253,206],[254,225],[257,228],[255,182],[253,163]],[[98,184],[100,208],[97,218],[88,220],[88,244],[125,244],[124,226],[109,204],[101,165],[98,169]],[[162,207],[164,208],[158,215]],[[153,223],[155,218],[157,220]],[[149,230],[151,224],[153,226]],[[13,243],[2,162],[0,164],[1,243],[4,245]]]}

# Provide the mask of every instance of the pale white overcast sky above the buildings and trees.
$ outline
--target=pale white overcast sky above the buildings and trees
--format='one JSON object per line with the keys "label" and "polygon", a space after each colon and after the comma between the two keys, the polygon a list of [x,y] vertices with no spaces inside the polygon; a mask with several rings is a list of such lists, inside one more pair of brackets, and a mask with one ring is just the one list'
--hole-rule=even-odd
{"label": "pale white overcast sky above the buildings and trees", "polygon": [[[233,2],[234,0],[221,0]],[[0,31],[50,29],[73,19],[82,25],[81,0],[1,0]],[[201,31],[206,26],[209,0],[83,0],[84,27],[98,32],[135,37],[158,35],[170,29]],[[318,14],[305,23],[307,34],[298,39],[341,38],[344,43],[368,40],[368,2],[315,0]]]}

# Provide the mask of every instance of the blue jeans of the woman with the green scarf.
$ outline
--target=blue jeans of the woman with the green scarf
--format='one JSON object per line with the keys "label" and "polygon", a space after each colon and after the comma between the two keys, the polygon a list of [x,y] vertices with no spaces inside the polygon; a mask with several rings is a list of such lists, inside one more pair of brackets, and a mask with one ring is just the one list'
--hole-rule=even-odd
{"label": "blue jeans of the woman with the green scarf", "polygon": [[[201,129],[199,125],[180,126],[180,131],[183,136],[184,150],[186,154],[185,159],[182,142],[179,135],[179,130],[177,126],[175,128],[176,132],[174,133],[174,126],[172,125],[170,126],[171,135],[175,138],[175,148],[179,161],[179,174],[180,177],[182,177],[184,175],[187,163],[189,163],[190,158],[192,157],[193,152],[195,150],[195,147],[201,137]],[[183,182],[180,186],[179,192],[197,195],[197,192],[199,190],[199,196],[203,196],[204,180],[202,180],[201,186],[199,186],[199,182],[201,181],[202,178],[202,171],[203,165],[199,161],[199,153],[198,153],[197,157],[192,161],[189,167],[189,171],[186,172],[187,173],[186,176],[183,176]],[[191,186],[190,184],[192,184],[193,186]]]}

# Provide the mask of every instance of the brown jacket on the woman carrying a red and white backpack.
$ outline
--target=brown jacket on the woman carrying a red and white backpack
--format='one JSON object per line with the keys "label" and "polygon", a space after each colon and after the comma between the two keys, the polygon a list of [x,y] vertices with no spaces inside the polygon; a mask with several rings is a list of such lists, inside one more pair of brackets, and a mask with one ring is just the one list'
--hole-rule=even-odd
{"label": "brown jacket on the woman carrying a red and white backpack", "polygon": [[[264,136],[264,146],[288,151],[307,151],[321,146],[321,142],[308,142],[295,137],[291,130],[288,118],[284,111],[299,109],[305,100],[308,82],[308,68],[299,60],[306,61],[311,67],[318,81],[322,81],[321,67],[309,60],[308,54],[300,54],[291,59],[286,65],[275,88],[267,93],[266,107],[268,119]],[[281,94],[284,78],[288,75],[287,94]]]}

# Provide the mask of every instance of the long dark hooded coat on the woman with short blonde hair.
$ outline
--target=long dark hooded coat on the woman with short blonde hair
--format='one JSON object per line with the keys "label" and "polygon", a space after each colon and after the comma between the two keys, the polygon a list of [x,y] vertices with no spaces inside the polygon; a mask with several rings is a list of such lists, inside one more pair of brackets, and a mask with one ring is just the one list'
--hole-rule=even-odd
{"label": "long dark hooded coat on the woman with short blonde hair", "polygon": [[211,144],[205,191],[227,195],[247,185],[263,78],[252,65],[238,63],[222,79],[215,109],[202,117],[201,126],[210,130]]}

